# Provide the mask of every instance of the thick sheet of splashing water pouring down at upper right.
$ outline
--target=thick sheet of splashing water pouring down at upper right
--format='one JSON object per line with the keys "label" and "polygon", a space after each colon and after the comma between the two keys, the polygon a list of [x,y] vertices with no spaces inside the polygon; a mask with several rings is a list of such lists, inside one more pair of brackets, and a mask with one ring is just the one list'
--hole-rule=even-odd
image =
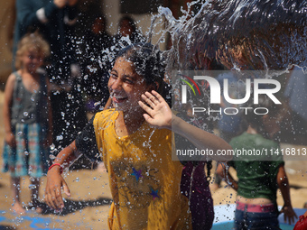
{"label": "thick sheet of splashing water pouring down at upper right", "polygon": [[237,70],[307,70],[306,1],[207,1],[189,19],[191,5],[179,20],[159,8],[172,35],[169,70],[209,69],[212,60]]}

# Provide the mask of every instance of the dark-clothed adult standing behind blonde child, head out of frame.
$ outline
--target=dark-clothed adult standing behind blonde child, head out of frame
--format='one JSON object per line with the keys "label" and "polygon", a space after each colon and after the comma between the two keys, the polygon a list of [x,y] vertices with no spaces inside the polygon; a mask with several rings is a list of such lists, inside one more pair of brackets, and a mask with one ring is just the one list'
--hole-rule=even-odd
{"label": "dark-clothed adult standing behind blonde child, head out of frame", "polygon": [[[51,57],[46,69],[53,91],[53,143],[57,148],[70,143],[87,123],[80,95],[79,65],[72,42],[74,24],[78,16],[77,2],[78,0],[16,1],[14,43],[16,44],[24,33],[39,30],[51,45]],[[69,132],[66,132],[67,130]]]}

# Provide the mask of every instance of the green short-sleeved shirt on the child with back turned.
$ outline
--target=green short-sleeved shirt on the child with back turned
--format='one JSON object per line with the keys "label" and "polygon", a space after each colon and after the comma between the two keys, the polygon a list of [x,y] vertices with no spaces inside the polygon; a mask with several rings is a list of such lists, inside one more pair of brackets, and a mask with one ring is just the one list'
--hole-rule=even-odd
{"label": "green short-sleeved shirt on the child with back turned", "polygon": [[[233,138],[230,145],[235,152],[237,150],[258,151],[263,154],[263,156],[256,156],[252,153],[247,157],[235,155],[233,161],[228,162],[237,170],[237,195],[244,198],[268,198],[275,203],[276,176],[279,167],[284,165],[278,143],[265,139],[260,134],[243,133]],[[279,154],[275,154],[276,150]]]}

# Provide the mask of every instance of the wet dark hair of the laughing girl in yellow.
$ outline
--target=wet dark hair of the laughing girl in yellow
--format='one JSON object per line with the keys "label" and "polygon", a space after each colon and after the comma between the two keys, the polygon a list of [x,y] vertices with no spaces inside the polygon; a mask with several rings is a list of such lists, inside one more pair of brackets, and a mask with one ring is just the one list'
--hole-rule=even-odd
{"label": "wet dark hair of the laughing girl in yellow", "polygon": [[116,60],[121,57],[131,61],[135,66],[135,72],[144,77],[146,84],[154,85],[155,90],[166,99],[170,86],[163,80],[166,64],[162,51],[151,43],[140,42],[119,51]]}

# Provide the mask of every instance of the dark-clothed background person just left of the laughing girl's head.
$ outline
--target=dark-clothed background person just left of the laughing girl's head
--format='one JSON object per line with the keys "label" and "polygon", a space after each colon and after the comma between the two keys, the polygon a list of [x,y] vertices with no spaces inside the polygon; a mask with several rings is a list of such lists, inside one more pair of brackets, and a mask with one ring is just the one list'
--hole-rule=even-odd
{"label": "dark-clothed background person just left of the laughing girl's head", "polygon": [[111,36],[106,30],[106,24],[105,16],[102,14],[93,15],[88,32],[84,35],[82,42],[84,54],[81,66],[88,112],[98,112],[101,106],[105,106],[109,97],[107,81],[111,63],[107,54],[111,46]]}

